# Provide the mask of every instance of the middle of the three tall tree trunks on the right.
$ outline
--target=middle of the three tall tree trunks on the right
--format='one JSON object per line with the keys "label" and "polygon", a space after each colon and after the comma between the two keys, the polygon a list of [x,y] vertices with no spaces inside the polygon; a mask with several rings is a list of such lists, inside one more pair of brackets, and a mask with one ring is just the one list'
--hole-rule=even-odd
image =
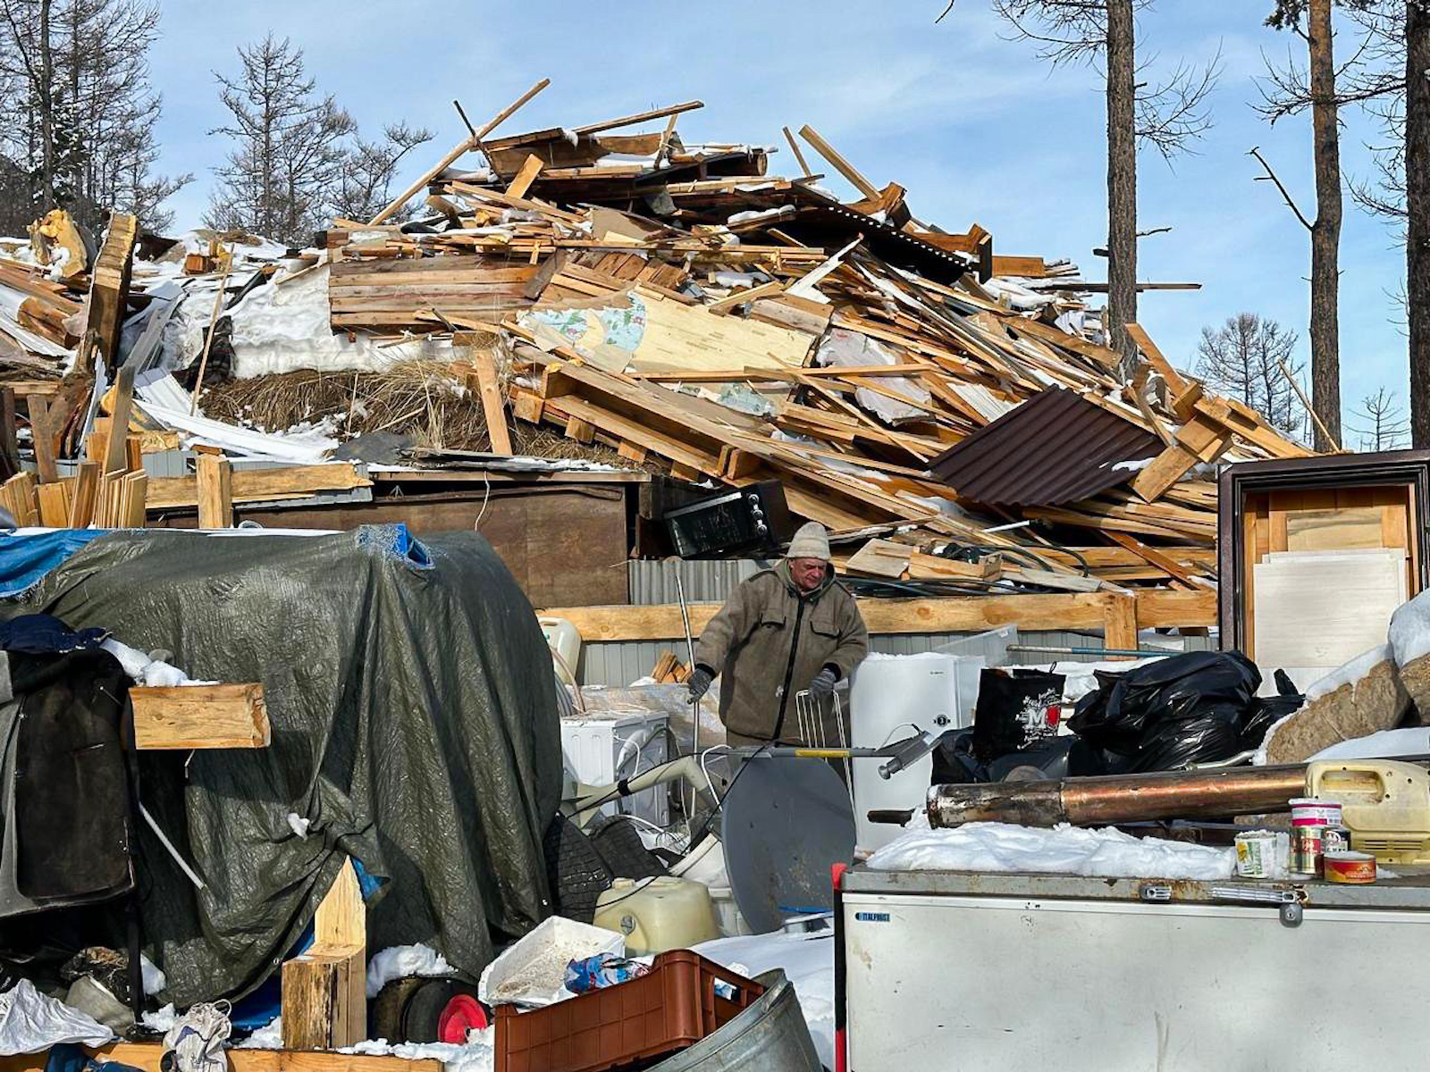
{"label": "middle of the three tall tree trunks on the right", "polygon": [[1334,450],[1340,422],[1340,130],[1336,123],[1336,64],[1331,57],[1331,0],[1311,0],[1311,130],[1316,157],[1316,224],[1311,227],[1311,405],[1334,436],[1317,427],[1316,447]]}

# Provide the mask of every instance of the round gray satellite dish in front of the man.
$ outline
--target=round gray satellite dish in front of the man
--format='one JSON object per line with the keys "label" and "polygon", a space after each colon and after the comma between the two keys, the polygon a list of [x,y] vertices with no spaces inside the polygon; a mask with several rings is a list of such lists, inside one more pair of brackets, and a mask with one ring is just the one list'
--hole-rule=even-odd
{"label": "round gray satellite dish in front of the man", "polygon": [[721,816],[731,893],[754,933],[834,908],[829,869],[854,859],[854,806],[834,768],[822,759],[751,759]]}

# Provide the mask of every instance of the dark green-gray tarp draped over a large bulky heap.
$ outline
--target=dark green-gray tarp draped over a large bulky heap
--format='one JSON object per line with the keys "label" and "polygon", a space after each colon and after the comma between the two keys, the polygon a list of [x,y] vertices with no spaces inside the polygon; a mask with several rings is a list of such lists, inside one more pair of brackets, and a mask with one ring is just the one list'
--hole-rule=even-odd
{"label": "dark green-gray tarp draped over a large bulky heap", "polygon": [[270,748],[142,756],[144,802],[207,883],[143,830],[144,935],[180,1006],[259,985],[346,855],[385,880],[375,949],[422,942],[475,976],[490,928],[549,913],[562,768],[536,616],[480,536],[405,536],[107,533],[10,606],[265,686]]}

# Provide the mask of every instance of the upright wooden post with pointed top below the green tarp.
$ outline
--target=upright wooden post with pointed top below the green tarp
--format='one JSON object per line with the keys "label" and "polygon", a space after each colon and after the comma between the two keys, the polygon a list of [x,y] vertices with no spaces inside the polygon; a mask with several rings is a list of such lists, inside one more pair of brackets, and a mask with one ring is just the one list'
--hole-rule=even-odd
{"label": "upright wooden post with pointed top below the green tarp", "polygon": [[337,1049],[368,1038],[368,910],[345,860],[313,918],[313,945],[283,963],[283,1045]]}

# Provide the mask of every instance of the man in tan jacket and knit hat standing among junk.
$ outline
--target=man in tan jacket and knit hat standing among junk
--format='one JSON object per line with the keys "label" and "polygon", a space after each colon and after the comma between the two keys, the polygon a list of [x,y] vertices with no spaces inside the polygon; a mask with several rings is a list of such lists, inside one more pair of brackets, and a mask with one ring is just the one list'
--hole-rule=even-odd
{"label": "man in tan jacket and knit hat standing among junk", "polygon": [[731,745],[815,743],[799,739],[795,693],[808,689],[827,709],[835,685],[868,652],[859,607],[834,579],[829,536],[809,522],[785,560],[745,580],[705,626],[691,699],[721,675],[719,716]]}

